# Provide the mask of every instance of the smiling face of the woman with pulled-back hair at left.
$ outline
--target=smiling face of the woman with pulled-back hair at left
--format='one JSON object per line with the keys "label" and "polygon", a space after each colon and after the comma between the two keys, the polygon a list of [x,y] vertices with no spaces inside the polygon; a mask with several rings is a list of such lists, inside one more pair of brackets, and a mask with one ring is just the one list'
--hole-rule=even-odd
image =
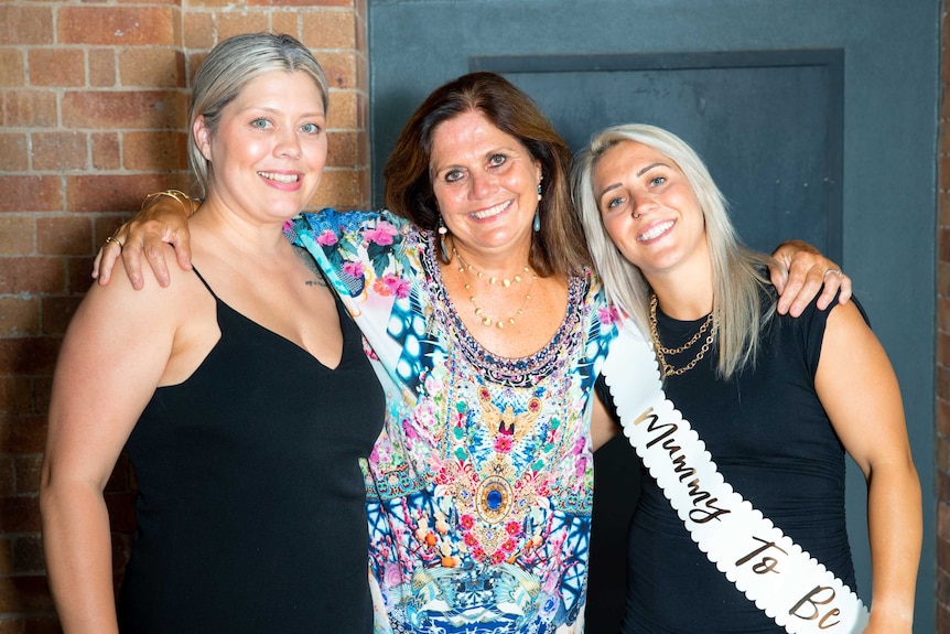
{"label": "smiling face of the woman with pulled-back hair at left", "polygon": [[231,209],[289,218],[313,197],[326,164],[323,96],[304,72],[274,71],[248,82],[194,136],[209,161],[208,197]]}

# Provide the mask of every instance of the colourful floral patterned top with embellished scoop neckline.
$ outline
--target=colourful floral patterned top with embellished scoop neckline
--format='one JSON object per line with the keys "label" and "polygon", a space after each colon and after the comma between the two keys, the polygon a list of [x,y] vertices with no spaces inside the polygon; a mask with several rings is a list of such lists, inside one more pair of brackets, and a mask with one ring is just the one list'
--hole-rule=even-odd
{"label": "colourful floral patterned top with embellished scoop neckline", "polygon": [[594,380],[616,336],[592,273],[538,353],[483,348],[444,291],[436,241],[388,212],[288,227],[371,346],[387,420],[365,468],[377,632],[580,633]]}

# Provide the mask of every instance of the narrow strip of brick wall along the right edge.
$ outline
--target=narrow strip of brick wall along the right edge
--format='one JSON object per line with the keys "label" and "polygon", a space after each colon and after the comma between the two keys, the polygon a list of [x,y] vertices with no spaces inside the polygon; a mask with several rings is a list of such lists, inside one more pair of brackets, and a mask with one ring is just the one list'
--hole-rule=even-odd
{"label": "narrow strip of brick wall along the right edge", "polygon": [[[941,14],[937,204],[937,632],[950,634],[950,0]],[[926,502],[926,501],[925,501]]]}

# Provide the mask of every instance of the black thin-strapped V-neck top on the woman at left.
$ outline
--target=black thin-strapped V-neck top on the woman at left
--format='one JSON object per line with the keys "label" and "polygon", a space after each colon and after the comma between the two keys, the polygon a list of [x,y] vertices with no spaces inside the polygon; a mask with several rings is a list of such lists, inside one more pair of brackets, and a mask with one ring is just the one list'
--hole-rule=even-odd
{"label": "black thin-strapped V-neck top on the woman at left", "polygon": [[330,369],[208,291],[220,340],[187,380],[155,390],[127,443],[138,529],[119,628],[371,632],[358,459],[385,400],[360,333],[337,300]]}

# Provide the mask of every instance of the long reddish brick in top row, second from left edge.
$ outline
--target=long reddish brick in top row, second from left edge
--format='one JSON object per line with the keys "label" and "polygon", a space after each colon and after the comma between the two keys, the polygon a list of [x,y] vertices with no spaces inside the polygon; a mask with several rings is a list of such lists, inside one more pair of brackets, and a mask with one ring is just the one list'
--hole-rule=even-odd
{"label": "long reddish brick in top row, second from left edge", "polygon": [[171,46],[175,42],[176,11],[170,7],[61,7],[57,41],[61,44]]}

